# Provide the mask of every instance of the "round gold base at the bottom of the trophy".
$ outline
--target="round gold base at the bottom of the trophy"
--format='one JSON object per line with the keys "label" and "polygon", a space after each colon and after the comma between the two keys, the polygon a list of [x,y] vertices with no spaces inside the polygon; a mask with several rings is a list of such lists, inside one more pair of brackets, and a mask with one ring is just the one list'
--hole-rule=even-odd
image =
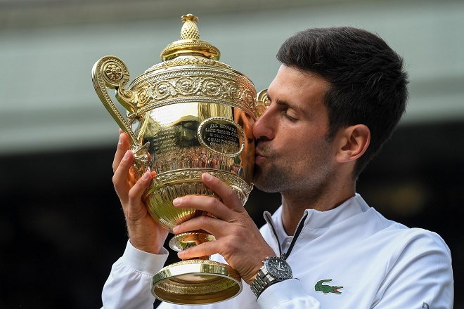
{"label": "round gold base at the bottom of the trophy", "polygon": [[210,260],[186,260],[167,265],[153,276],[151,293],[161,301],[183,305],[219,303],[242,291],[238,272]]}

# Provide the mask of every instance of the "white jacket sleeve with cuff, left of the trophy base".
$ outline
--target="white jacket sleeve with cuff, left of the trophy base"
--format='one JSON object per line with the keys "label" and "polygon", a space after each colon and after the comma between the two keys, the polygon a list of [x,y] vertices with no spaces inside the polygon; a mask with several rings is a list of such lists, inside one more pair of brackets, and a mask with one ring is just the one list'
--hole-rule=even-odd
{"label": "white jacket sleeve with cuff, left of the trophy base", "polygon": [[126,250],[111,268],[103,287],[104,309],[153,309],[155,297],[150,292],[151,279],[167,260],[162,254],[148,254],[127,242]]}

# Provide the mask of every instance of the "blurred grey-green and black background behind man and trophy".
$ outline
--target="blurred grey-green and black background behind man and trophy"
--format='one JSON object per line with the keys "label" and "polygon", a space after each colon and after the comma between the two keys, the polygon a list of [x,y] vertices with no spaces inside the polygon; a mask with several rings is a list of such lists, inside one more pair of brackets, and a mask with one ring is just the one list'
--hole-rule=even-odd
{"label": "blurred grey-green and black background behind man and trophy", "polygon": [[[464,308],[458,0],[0,0],[0,308],[100,308],[127,235],[111,182],[119,133],[91,68],[116,55],[133,80],[179,39],[186,13],[199,17],[200,39],[258,90],[278,70],[280,44],[308,27],[362,27],[404,56],[406,117],[357,190],[387,218],[445,239],[454,308]],[[262,225],[262,211],[279,204],[254,190],[246,207]]]}

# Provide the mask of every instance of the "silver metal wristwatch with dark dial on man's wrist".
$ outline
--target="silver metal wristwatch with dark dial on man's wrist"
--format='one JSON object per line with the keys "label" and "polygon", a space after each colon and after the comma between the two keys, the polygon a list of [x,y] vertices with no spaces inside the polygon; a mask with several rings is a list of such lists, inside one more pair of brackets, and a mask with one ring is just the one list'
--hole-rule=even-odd
{"label": "silver metal wristwatch with dark dial on man's wrist", "polygon": [[262,294],[262,291],[271,284],[292,279],[292,268],[283,259],[276,256],[267,257],[263,261],[262,268],[259,269],[258,275],[252,282],[251,289],[256,298]]}

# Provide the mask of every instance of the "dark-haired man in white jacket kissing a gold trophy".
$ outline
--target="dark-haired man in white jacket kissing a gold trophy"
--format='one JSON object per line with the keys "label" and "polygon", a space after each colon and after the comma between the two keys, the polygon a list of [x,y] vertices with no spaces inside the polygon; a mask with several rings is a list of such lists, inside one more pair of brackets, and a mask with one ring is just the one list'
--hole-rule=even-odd
{"label": "dark-haired man in white jacket kissing a gold trophy", "polygon": [[[174,200],[216,217],[174,228],[202,228],[217,239],[179,257],[219,254],[245,282],[236,298],[204,308],[452,308],[451,255],[443,240],[388,221],[356,194],[359,173],[406,107],[408,81],[399,55],[370,32],[336,27],[295,34],[277,58],[282,65],[269,86],[271,103],[253,126],[254,185],[281,192],[281,208],[258,230],[233,190],[208,174],[202,179],[222,203],[202,196]],[[113,182],[129,242],[103,289],[107,309],[150,308],[150,280],[167,255],[167,232],[141,202],[153,175],[135,182],[128,150],[122,134]],[[259,281],[264,260],[281,253],[286,260],[278,265],[288,263],[297,279]]]}

